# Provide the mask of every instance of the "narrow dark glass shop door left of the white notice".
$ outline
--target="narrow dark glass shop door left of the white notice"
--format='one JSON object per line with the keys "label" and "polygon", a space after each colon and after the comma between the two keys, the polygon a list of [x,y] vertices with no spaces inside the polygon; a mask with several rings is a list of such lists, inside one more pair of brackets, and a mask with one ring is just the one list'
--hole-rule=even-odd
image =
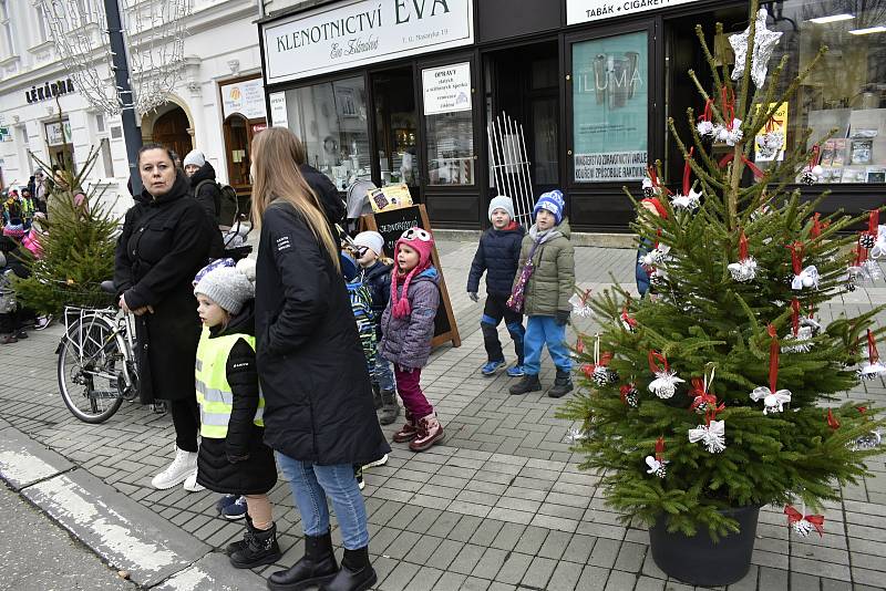
{"label": "narrow dark glass shop door left of the white notice", "polygon": [[412,68],[370,74],[375,112],[377,185],[405,183],[421,203],[419,184],[419,113]]}

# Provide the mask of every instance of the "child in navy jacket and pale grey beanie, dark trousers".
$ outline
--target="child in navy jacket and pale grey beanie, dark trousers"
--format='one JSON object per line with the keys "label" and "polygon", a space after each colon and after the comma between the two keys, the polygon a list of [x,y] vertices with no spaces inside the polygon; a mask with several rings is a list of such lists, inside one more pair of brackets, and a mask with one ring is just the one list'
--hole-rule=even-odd
{"label": "child in navy jacket and pale grey beanie, dark trousers", "polygon": [[504,195],[490,201],[490,221],[492,228],[480,237],[480,246],[467,274],[467,294],[476,302],[480,300],[480,279],[486,273],[486,303],[480,319],[486,364],[481,373],[493,375],[505,364],[502,342],[498,340],[498,323],[504,319],[517,356],[516,364],[508,367],[507,375],[519,377],[523,375],[523,338],[526,330],[523,328],[523,314],[509,309],[507,299],[517,274],[519,249],[526,230],[514,220],[514,201]]}

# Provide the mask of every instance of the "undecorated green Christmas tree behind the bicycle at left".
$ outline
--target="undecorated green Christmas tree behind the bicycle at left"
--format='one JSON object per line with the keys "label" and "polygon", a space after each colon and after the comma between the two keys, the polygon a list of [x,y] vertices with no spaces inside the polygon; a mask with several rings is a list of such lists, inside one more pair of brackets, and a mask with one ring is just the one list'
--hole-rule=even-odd
{"label": "undecorated green Christmas tree behind the bicycle at left", "polygon": [[61,170],[63,182],[50,185],[42,257],[30,260],[29,278],[14,282],[18,300],[39,313],[113,303],[101,282],[114,277],[117,220],[94,186],[85,193],[81,188],[97,158],[99,151],[91,149],[80,174]]}

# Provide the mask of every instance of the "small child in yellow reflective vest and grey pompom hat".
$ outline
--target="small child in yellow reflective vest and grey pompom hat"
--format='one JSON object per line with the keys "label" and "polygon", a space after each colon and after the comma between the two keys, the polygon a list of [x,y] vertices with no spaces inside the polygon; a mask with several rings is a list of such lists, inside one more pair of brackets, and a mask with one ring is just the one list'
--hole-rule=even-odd
{"label": "small child in yellow reflective vest and grey pompom hat", "polygon": [[223,501],[231,501],[228,506],[246,497],[246,535],[227,548],[230,563],[238,569],[271,564],[281,556],[267,496],[277,484],[277,466],[274,452],[262,440],[265,400],[256,369],[255,277],[255,260],[243,259],[236,267],[200,271],[194,288],[204,325],[195,372],[203,438],[197,484],[225,494]]}

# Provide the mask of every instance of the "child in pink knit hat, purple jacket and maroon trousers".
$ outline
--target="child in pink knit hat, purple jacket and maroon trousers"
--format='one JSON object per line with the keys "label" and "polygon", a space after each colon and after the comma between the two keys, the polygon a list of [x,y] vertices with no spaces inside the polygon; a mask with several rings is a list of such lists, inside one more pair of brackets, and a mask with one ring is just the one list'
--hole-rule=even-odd
{"label": "child in pink knit hat, purple jacket and maroon trousers", "polygon": [[440,305],[440,274],[431,253],[434,238],[421,228],[404,231],[394,245],[391,301],[381,319],[381,355],[394,364],[396,390],[403,400],[406,424],[393,435],[423,452],[443,438],[443,426],[421,388],[422,367],[431,355],[434,318]]}

